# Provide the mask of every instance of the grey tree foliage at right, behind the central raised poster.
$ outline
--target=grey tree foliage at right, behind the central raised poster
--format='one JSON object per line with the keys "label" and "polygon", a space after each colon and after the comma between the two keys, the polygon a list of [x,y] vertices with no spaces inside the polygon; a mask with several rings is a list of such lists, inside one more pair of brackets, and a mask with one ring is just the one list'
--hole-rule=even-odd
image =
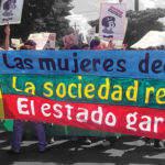
{"label": "grey tree foliage at right, behind the central raised poster", "polygon": [[[131,46],[144,36],[148,31],[163,31],[163,23],[158,22],[160,18],[165,16],[165,9],[146,9],[142,11],[128,11],[128,29],[124,37],[124,43]],[[90,21],[91,26],[97,26],[99,30],[99,20]]]}

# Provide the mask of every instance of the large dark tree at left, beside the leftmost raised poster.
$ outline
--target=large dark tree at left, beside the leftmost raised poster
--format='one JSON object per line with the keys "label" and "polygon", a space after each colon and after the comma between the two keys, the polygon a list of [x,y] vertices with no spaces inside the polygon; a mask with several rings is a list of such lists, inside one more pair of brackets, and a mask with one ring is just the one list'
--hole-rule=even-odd
{"label": "large dark tree at left, beside the leftmost raised poster", "polygon": [[69,15],[73,0],[24,0],[21,24],[11,25],[11,37],[25,40],[30,33],[53,32],[58,42],[73,32]]}

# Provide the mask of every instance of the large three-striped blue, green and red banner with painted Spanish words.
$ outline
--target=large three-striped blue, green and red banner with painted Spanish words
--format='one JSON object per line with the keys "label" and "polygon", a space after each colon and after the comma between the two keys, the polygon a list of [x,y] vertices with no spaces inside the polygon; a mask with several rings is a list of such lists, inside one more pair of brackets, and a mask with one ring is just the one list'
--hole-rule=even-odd
{"label": "large three-striped blue, green and red banner with painted Spanish words", "polygon": [[0,54],[1,119],[165,139],[163,51]]}

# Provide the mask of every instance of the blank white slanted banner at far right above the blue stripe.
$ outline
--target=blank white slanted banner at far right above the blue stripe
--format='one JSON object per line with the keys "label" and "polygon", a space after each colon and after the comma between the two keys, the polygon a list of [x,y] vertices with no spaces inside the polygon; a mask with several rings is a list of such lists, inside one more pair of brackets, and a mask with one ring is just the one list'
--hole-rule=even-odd
{"label": "blank white slanted banner at far right above the blue stripe", "polygon": [[139,42],[133,44],[131,48],[147,48],[165,45],[165,32],[150,31]]}

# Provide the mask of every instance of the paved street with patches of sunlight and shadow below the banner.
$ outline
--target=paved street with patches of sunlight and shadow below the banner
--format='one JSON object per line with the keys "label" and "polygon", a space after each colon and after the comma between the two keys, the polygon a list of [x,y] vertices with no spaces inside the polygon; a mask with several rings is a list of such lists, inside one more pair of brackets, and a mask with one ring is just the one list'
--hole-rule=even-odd
{"label": "paved street with patches of sunlight and shadow below the banner", "polygon": [[82,145],[67,139],[56,139],[50,144],[50,151],[37,152],[37,141],[25,138],[21,154],[9,155],[11,132],[0,132],[1,165],[164,165],[165,151],[145,146],[144,141],[135,136],[122,136],[114,146],[102,146],[101,140],[91,145]]}

